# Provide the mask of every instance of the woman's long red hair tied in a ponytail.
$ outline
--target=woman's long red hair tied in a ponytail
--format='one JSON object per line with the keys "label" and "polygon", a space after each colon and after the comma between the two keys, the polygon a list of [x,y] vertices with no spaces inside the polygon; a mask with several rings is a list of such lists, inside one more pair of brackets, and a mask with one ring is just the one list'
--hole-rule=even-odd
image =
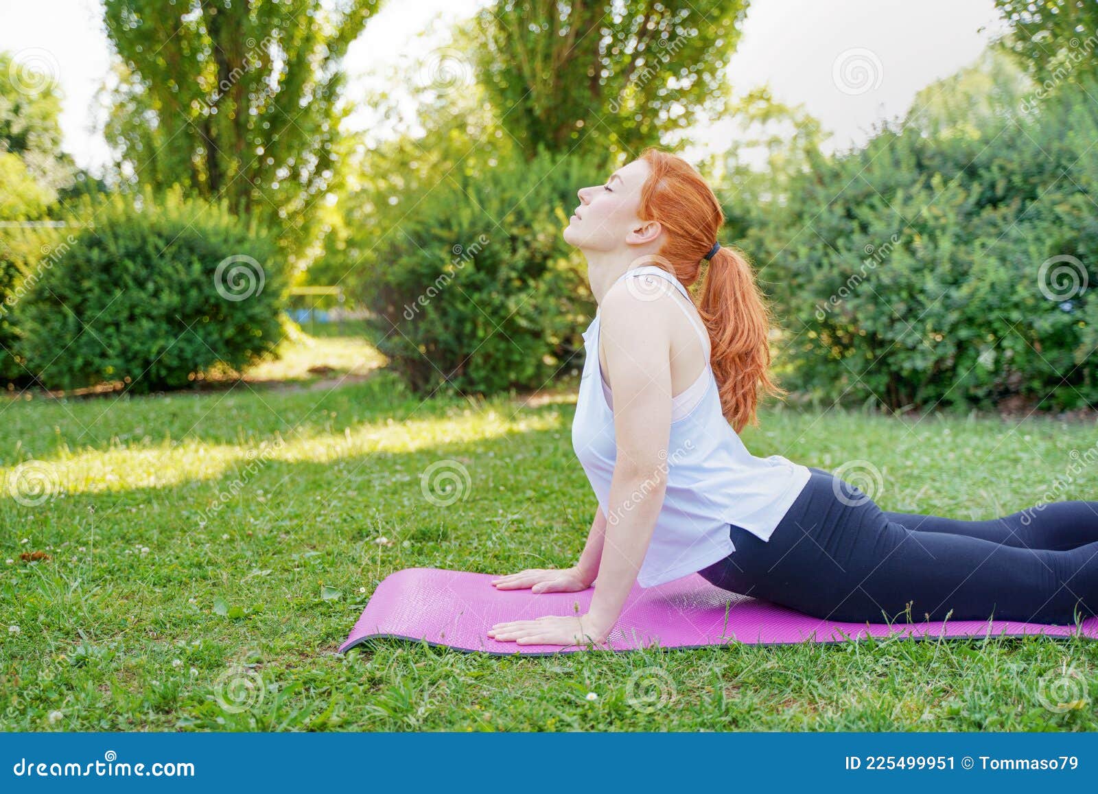
{"label": "woman's long red hair tied in a ponytail", "polygon": [[[640,219],[663,226],[666,242],[660,256],[666,261],[661,266],[670,266],[690,288],[720,234],[725,213],[709,186],[683,158],[657,148],[645,149],[640,157],[652,170],[641,188]],[[774,394],[786,391],[770,378],[770,307],[743,251],[721,244],[709,261],[697,311],[709,332],[721,413],[737,433],[748,423],[758,425],[759,388]]]}

